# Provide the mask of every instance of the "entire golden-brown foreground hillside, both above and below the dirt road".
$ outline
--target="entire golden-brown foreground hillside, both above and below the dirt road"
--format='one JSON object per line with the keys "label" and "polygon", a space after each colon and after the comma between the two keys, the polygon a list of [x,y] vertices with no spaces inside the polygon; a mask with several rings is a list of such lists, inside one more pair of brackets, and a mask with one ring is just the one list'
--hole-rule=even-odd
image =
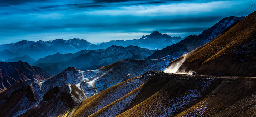
{"label": "entire golden-brown foreground hillside, both above and below the dirt road", "polygon": [[[73,117],[256,116],[256,77],[235,76],[255,75],[255,19],[256,12],[251,13],[170,62],[165,71],[148,71],[121,82],[65,113],[72,112]],[[188,75],[192,70],[199,75]]]}

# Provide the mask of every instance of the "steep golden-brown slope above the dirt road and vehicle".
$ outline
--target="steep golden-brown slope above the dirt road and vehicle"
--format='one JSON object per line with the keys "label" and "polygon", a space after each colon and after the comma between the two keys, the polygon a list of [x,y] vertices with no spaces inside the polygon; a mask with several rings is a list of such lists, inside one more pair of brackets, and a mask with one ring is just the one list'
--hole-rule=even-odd
{"label": "steep golden-brown slope above the dirt road and vehicle", "polygon": [[[196,71],[202,75],[255,76],[256,12],[251,13],[225,33],[181,56],[186,58],[180,73]],[[169,66],[175,61],[171,62]],[[167,69],[172,69],[172,67]]]}

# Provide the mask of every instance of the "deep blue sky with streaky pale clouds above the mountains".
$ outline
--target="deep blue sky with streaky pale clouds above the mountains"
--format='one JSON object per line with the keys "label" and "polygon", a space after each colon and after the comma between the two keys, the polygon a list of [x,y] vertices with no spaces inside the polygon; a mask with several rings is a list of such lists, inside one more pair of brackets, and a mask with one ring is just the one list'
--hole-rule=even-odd
{"label": "deep blue sky with streaky pale clouds above the mountains", "polygon": [[[153,31],[198,35],[255,0],[0,0],[0,44],[85,39],[96,44],[139,39]],[[256,5],[238,16],[256,11]]]}

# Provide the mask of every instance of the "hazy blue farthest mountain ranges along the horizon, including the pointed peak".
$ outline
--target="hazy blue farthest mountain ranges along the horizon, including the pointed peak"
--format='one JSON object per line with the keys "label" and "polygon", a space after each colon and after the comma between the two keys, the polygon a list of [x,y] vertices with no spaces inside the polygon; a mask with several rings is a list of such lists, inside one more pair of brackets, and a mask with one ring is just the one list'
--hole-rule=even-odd
{"label": "hazy blue farthest mountain ranges along the horizon, including the pointed peak", "polygon": [[127,47],[129,45],[139,46],[142,48],[148,48],[151,50],[157,50],[165,48],[166,46],[175,44],[184,38],[171,37],[166,34],[161,34],[158,31],[153,32],[150,35],[142,36],[140,39],[133,40],[115,40],[106,43],[95,45],[87,42],[84,39],[56,39],[52,41],[27,41],[22,40],[17,43],[0,45],[0,61],[7,59],[14,59],[16,57],[22,57],[24,55],[30,56],[32,59],[38,60],[48,55],[56,53],[75,53],[80,50],[95,50],[105,49],[112,45]]}

